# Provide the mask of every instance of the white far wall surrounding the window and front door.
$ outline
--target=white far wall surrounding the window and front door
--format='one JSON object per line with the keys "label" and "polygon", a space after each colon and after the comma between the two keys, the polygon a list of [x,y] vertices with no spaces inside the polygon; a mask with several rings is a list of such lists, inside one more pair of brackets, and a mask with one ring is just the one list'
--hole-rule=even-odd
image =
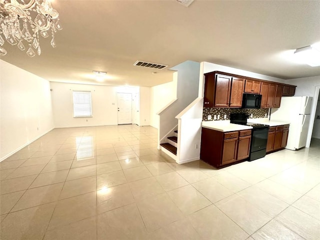
{"label": "white far wall surrounding the window and front door", "polygon": [[[117,92],[132,93],[132,123],[149,125],[149,87],[129,86],[103,86],[89,84],[75,84],[50,82],[52,109],[55,127],[77,127],[77,126],[98,126],[116,125],[117,123]],[[92,117],[73,117],[72,90],[91,91]],[[139,93],[139,94],[138,94]],[[140,109],[135,111],[134,95],[139,96]],[[147,99],[147,100],[146,100]],[[139,114],[134,118],[133,114]],[[137,119],[137,122],[134,121]],[[141,119],[143,122],[141,122]],[[144,119],[146,119],[144,121]]]}

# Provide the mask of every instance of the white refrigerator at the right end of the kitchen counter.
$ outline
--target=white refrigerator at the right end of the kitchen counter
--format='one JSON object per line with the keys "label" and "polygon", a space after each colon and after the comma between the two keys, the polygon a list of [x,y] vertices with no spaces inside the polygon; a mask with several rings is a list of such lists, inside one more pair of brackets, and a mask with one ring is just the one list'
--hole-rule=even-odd
{"label": "white refrigerator at the right end of the kitchen counter", "polygon": [[297,150],[306,144],[309,129],[311,96],[281,97],[279,108],[271,108],[270,120],[290,122],[287,149]]}

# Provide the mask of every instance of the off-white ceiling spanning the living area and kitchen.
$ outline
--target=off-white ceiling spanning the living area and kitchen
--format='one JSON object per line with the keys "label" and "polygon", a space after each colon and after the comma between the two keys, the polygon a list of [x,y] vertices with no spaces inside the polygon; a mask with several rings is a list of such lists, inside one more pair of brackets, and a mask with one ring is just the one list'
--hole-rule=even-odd
{"label": "off-white ceiling spanning the living area and kitchen", "polygon": [[[50,81],[153,86],[172,80],[168,68],[208,61],[284,79],[320,75],[292,61],[292,49],[320,41],[320,1],[54,0],[63,27],[40,38],[32,58],[16,46],[1,59]],[[136,60],[169,65],[133,66]],[[97,82],[92,70],[107,71]],[[152,74],[152,71],[157,71]]]}

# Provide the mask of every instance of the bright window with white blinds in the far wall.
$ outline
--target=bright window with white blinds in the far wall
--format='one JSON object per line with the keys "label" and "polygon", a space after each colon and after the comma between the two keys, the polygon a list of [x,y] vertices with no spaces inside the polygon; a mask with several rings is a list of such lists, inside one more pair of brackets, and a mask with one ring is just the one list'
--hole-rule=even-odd
{"label": "bright window with white blinds in the far wall", "polygon": [[92,116],[91,92],[72,91],[73,117]]}

